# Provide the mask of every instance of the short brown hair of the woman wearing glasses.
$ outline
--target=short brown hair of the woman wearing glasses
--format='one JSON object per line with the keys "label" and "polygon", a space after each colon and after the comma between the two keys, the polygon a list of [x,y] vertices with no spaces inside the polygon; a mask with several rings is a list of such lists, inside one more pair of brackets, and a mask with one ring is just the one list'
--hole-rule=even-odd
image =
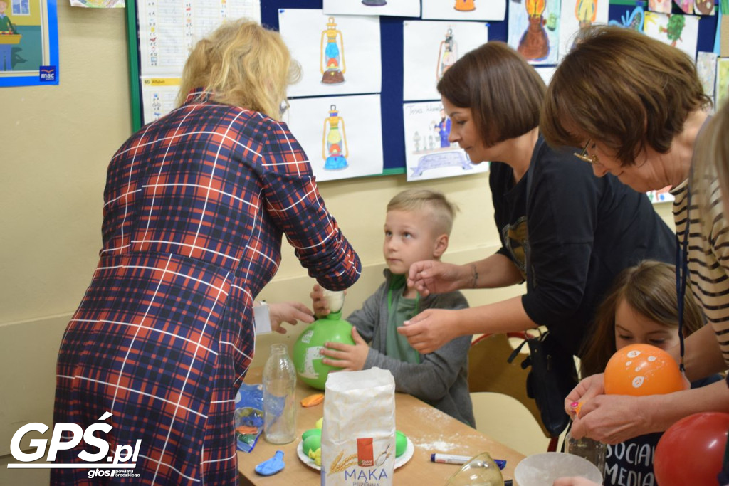
{"label": "short brown hair of the woman wearing glasses", "polygon": [[632,29],[591,26],[557,67],[539,128],[550,145],[593,138],[634,165],[646,145],[668,152],[690,112],[710,103],[681,50]]}

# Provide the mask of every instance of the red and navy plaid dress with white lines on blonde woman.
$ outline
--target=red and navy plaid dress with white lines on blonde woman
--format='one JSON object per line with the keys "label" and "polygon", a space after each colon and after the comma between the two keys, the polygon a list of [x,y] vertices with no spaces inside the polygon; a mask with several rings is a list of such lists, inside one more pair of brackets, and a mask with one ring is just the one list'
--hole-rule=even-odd
{"label": "red and navy plaid dress with white lines on blonde woman", "polygon": [[[112,158],[102,232],[58,354],[55,423],[109,423],[96,434],[109,455],[141,439],[141,477],[107,482],[235,485],[233,408],[253,356],[252,301],[276,273],[282,234],[329,289],[360,272],[303,150],[284,123],[192,91]],[[55,463],[80,462],[84,445]],[[88,471],[54,469],[51,482],[98,484]]]}

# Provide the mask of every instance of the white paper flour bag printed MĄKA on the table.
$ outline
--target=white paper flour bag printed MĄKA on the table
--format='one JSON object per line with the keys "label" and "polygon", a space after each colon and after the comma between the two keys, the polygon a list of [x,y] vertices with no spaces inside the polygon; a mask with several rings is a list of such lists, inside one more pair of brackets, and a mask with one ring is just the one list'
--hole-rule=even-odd
{"label": "white paper flour bag printed M\u0104KA on the table", "polygon": [[389,486],[395,380],[386,369],[330,373],[321,427],[321,486]]}

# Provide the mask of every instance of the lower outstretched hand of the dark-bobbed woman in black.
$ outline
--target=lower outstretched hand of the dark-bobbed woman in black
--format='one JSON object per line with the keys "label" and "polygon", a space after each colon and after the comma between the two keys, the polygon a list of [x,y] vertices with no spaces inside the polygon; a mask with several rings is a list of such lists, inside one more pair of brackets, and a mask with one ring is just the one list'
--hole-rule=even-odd
{"label": "lower outstretched hand of the dark-bobbed woman in black", "polygon": [[426,309],[410,321],[405,321],[397,332],[408,338],[408,342],[421,354],[432,353],[446,342],[458,337],[457,310]]}

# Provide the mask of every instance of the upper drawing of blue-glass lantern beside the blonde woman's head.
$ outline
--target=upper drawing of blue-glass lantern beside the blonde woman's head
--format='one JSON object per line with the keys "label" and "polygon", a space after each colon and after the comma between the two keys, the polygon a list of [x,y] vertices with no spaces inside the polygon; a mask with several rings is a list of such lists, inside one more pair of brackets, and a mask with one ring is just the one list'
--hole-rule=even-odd
{"label": "upper drawing of blue-glass lantern beside the blonde woman's head", "polygon": [[279,9],[278,26],[292,58],[301,66],[301,79],[289,86],[289,96],[381,91],[378,17]]}

